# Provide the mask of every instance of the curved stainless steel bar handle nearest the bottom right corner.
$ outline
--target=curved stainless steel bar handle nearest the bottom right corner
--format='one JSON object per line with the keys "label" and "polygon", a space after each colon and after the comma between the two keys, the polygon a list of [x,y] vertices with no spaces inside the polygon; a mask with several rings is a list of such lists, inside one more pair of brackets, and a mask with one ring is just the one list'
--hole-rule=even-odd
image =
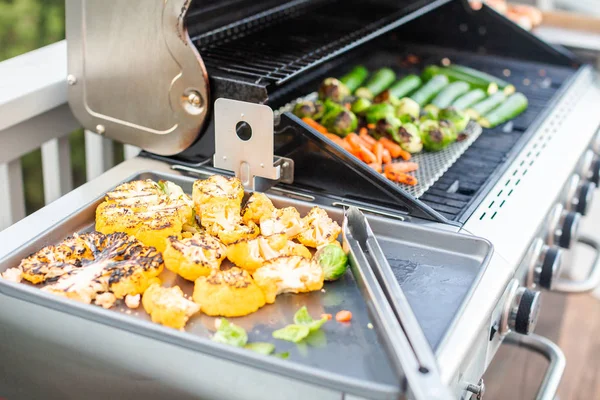
{"label": "curved stainless steel bar handle nearest the bottom right corner", "polygon": [[506,336],[505,341],[507,344],[524,347],[539,353],[550,362],[536,400],[555,400],[556,391],[566,366],[566,359],[562,350],[545,337],[535,334],[523,336],[510,333]]}

